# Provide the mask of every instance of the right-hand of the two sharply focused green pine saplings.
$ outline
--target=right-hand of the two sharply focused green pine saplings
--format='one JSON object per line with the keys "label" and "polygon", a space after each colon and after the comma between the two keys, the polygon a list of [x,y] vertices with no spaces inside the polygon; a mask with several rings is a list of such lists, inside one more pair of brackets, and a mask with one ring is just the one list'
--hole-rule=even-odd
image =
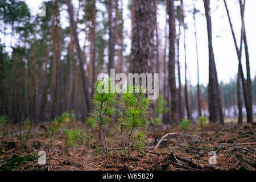
{"label": "right-hand of the two sharply focused green pine saplings", "polygon": [[[129,89],[133,90],[133,93],[129,93]],[[127,93],[123,93],[122,103],[124,105],[124,111],[121,119],[121,135],[123,139],[123,147],[128,147],[128,158],[130,158],[131,143],[137,144],[137,147],[143,147],[144,142],[144,129],[146,122],[150,117],[150,101],[147,98],[146,90],[139,86],[134,85],[127,86]],[[127,144],[125,142],[125,133],[127,137]],[[127,154],[125,154],[127,157]]]}

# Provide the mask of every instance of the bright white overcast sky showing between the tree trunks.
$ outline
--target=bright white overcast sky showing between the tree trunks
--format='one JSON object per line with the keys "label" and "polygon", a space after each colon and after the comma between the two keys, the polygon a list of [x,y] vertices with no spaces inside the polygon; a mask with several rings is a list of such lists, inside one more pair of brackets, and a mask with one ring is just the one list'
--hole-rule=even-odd
{"label": "bright white overcast sky showing between the tree trunks", "polygon": [[[31,9],[32,15],[36,15],[39,10],[42,0],[26,0],[28,7]],[[73,5],[77,6],[77,0],[73,0]],[[125,20],[125,31],[131,31],[131,20],[129,19],[130,11],[127,9],[129,1],[123,0],[123,17]],[[232,18],[232,23],[238,45],[240,45],[240,34],[241,34],[241,17],[240,17],[240,6],[238,0],[227,0],[230,16]],[[98,3],[96,4],[96,6]],[[192,85],[197,84],[197,67],[196,67],[196,49],[195,49],[195,36],[194,36],[194,26],[193,26],[193,16],[192,13],[188,11],[191,10],[193,5],[192,0],[184,1],[185,10],[185,23],[188,24],[188,29],[186,30],[186,47],[187,47],[187,64],[189,74],[191,75]],[[232,34],[229,27],[228,17],[226,15],[226,10],[224,2],[222,0],[212,0],[210,1],[210,7],[212,9],[212,28],[213,28],[213,50],[215,55],[217,73],[219,81],[229,82],[231,78],[237,75],[238,71],[238,59],[236,54],[236,49],[234,47],[234,42]],[[247,34],[247,42],[249,46],[250,54],[250,67],[251,67],[251,77],[254,78],[256,73],[256,1],[247,0],[245,7],[245,28]],[[97,7],[98,8],[98,7]],[[101,7],[103,8],[103,7]],[[207,24],[204,16],[204,3],[203,0],[197,0],[196,8],[201,12],[196,15],[196,31],[199,49],[199,70],[200,70],[200,83],[207,85],[208,83],[208,39],[207,39]],[[61,24],[63,27],[68,26],[67,13],[61,13]],[[98,14],[97,14],[98,16]],[[165,27],[165,7],[159,6],[158,10],[158,22],[159,22],[159,37],[162,38],[162,43],[164,44],[164,27]],[[180,63],[181,63],[181,75],[184,83],[184,49],[183,49],[183,35],[181,36],[181,46],[180,46]],[[80,39],[83,39],[81,34]],[[7,42],[7,41],[6,41]],[[130,53],[130,40],[125,39],[125,43],[128,44],[126,53]],[[243,70],[245,70],[245,53],[242,53]]]}

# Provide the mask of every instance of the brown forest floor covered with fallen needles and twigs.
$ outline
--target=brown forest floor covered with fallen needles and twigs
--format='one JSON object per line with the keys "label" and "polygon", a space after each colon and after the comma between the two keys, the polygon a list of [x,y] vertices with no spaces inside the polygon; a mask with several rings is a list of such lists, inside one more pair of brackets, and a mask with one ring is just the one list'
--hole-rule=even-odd
{"label": "brown forest floor covered with fallen needles and twigs", "polygon": [[[256,170],[255,123],[208,125],[202,131],[192,126],[185,133],[178,126],[154,126],[147,131],[146,147],[132,151],[129,160],[123,156],[118,129],[108,132],[110,154],[106,158],[98,137],[90,147],[67,147],[66,135],[60,131],[50,147],[42,127],[47,130],[48,123],[40,125],[33,126],[26,144],[20,142],[19,133],[10,138],[0,135],[0,170]],[[72,125],[84,127],[81,122]],[[172,135],[156,148],[167,133]],[[39,151],[46,151],[45,165],[38,164]],[[209,152],[216,152],[216,163]]]}

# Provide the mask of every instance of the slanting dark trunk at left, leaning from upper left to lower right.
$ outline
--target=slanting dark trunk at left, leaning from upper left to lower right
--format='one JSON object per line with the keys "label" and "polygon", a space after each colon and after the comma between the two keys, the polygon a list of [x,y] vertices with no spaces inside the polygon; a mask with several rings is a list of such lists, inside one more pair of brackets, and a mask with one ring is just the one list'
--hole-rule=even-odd
{"label": "slanting dark trunk at left, leaning from upper left to lower right", "polygon": [[69,20],[70,20],[71,28],[72,28],[73,35],[75,38],[77,56],[79,58],[79,68],[80,68],[81,78],[82,78],[82,87],[83,87],[83,92],[84,92],[85,101],[86,101],[86,111],[87,111],[86,114],[88,114],[90,111],[90,98],[89,98],[89,92],[88,92],[88,84],[87,84],[87,80],[86,80],[86,73],[84,70],[85,57],[82,54],[82,51],[80,48],[79,39],[77,36],[77,31],[76,31],[77,26],[73,19],[73,6],[71,5],[70,0],[66,0],[66,2],[68,5]]}

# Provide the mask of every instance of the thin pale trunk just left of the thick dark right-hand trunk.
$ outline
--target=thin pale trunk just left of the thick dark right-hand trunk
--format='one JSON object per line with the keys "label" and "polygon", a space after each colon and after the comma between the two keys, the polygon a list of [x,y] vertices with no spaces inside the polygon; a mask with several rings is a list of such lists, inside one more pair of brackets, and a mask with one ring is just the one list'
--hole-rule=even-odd
{"label": "thin pale trunk just left of the thick dark right-hand trunk", "polygon": [[198,113],[199,117],[202,115],[201,111],[201,102],[200,102],[200,84],[199,84],[199,56],[198,56],[198,46],[197,46],[197,34],[196,34],[196,7],[195,7],[195,0],[193,1],[193,20],[194,20],[194,27],[195,27],[195,39],[196,39],[196,63],[197,63],[197,105],[198,105]]}

